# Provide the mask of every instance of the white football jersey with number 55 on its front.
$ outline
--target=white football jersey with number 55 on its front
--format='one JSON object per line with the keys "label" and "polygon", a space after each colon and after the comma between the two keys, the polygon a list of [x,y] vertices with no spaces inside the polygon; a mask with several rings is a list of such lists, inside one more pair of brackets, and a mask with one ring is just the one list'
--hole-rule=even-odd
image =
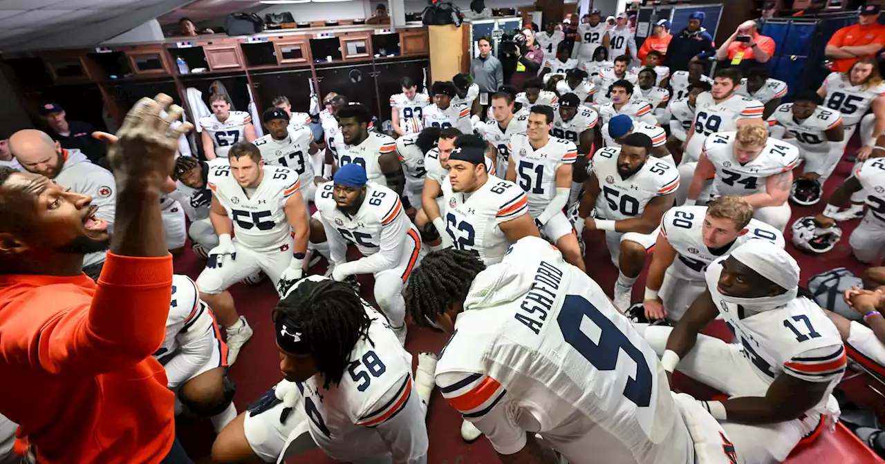
{"label": "white football jersey with number 55 on its front", "polygon": [[229,164],[212,166],[206,184],[227,210],[227,217],[234,224],[234,240],[258,252],[291,244],[292,227],[286,219],[285,206],[289,196],[300,187],[297,173],[289,168],[265,165],[262,169],[264,179],[251,192],[236,182]]}

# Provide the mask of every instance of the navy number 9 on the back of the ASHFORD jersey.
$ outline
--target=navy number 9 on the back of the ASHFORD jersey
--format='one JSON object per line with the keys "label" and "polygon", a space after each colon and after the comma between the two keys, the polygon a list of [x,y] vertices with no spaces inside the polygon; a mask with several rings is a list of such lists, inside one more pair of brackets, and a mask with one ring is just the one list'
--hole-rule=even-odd
{"label": "navy number 9 on the back of the ASHFORD jersey", "polygon": [[[596,325],[598,340],[594,341],[581,330],[585,317],[586,323]],[[617,371],[620,352],[627,354],[636,363],[636,371],[627,375],[624,397],[633,401],[637,407],[650,405],[653,378],[643,352],[630,342],[611,319],[599,312],[593,303],[581,295],[567,295],[557,316],[557,323],[566,343],[577,350],[597,370]],[[623,368],[625,366],[621,364],[621,369]],[[616,378],[620,380],[622,377]]]}

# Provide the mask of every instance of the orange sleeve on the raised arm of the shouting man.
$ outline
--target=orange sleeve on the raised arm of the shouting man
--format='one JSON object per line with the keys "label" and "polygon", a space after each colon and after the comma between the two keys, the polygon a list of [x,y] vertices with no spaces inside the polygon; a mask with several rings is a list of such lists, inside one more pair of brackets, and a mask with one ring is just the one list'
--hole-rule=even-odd
{"label": "orange sleeve on the raised arm of the shouting man", "polygon": [[132,366],[165,338],[172,299],[172,255],[139,258],[107,254],[95,296],[42,287],[28,305],[65,309],[39,327],[36,362],[50,373],[81,376]]}

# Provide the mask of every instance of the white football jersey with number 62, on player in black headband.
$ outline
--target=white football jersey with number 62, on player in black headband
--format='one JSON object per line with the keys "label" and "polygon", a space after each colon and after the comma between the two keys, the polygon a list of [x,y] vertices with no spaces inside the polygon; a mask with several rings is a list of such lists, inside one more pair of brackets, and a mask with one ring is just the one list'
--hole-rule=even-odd
{"label": "white football jersey with number 62, on player in black headband", "polygon": [[526,193],[516,184],[489,177],[473,192],[455,192],[443,180],[443,218],[452,243],[480,258],[487,266],[500,262],[511,241],[498,227],[528,212]]}

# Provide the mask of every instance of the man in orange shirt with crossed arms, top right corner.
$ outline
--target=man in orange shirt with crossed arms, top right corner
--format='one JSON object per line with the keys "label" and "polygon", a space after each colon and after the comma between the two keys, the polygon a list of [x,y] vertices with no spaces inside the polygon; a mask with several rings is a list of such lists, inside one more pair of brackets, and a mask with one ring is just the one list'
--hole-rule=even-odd
{"label": "man in orange shirt with crossed arms, top right corner", "polygon": [[834,72],[847,72],[860,58],[872,58],[885,47],[885,26],[879,24],[881,6],[868,4],[860,10],[858,24],[833,34],[824,52],[833,59]]}

